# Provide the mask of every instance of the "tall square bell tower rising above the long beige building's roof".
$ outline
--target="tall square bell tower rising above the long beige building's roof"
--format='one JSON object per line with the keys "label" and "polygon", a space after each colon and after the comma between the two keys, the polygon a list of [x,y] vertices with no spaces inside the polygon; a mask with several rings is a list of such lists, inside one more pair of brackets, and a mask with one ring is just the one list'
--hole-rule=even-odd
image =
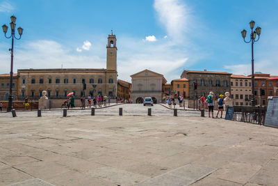
{"label": "tall square bell tower rising above the long beige building's roof", "polygon": [[108,35],[108,45],[106,46],[106,70],[117,71],[117,39],[113,31]]}

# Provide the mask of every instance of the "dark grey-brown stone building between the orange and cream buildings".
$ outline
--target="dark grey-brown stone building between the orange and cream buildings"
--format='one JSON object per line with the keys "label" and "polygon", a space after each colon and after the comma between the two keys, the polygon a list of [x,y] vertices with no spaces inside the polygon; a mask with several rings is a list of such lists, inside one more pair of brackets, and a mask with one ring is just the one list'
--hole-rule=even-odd
{"label": "dark grey-brown stone building between the orange and cream buildings", "polygon": [[[207,96],[210,91],[213,91],[217,98],[220,94],[231,92],[231,74],[228,72],[184,70],[181,78],[188,79],[189,100],[193,100],[194,95],[196,99],[202,95]],[[194,89],[194,83],[197,83],[197,90]]]}

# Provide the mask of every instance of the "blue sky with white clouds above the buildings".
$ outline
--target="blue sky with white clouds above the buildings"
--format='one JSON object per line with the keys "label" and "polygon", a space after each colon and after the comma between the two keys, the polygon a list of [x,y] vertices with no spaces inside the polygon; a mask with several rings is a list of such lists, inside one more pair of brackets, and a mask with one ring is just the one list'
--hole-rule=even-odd
{"label": "blue sky with white clouds above the buildings", "polygon": [[[0,0],[0,25],[15,15],[24,29],[15,40],[14,72],[106,68],[113,29],[119,79],[131,82],[130,75],[149,69],[170,83],[183,70],[250,75],[251,44],[240,31],[249,41],[251,20],[261,27],[255,71],[278,75],[277,9],[276,0]],[[0,73],[10,72],[10,47],[0,31]]]}

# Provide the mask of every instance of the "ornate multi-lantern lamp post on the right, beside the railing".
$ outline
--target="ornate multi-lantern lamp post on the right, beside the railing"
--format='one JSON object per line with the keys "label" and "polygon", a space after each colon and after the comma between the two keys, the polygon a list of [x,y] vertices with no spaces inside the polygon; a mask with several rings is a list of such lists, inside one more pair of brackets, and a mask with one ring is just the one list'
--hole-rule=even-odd
{"label": "ornate multi-lantern lamp post on the right, beside the railing", "polygon": [[[251,34],[250,34],[250,41],[245,41],[245,37],[246,37],[246,33],[247,31],[245,31],[245,29],[243,29],[243,31],[241,31],[241,36],[243,36],[243,40],[246,43],[251,42],[252,43],[252,106],[255,106],[255,98],[254,98],[254,42],[257,42],[260,38],[261,35],[261,27],[257,26],[256,29],[253,31],[255,26],[255,22],[251,21],[250,22],[250,29],[251,29]],[[258,34],[258,38],[256,39],[256,35]]]}

